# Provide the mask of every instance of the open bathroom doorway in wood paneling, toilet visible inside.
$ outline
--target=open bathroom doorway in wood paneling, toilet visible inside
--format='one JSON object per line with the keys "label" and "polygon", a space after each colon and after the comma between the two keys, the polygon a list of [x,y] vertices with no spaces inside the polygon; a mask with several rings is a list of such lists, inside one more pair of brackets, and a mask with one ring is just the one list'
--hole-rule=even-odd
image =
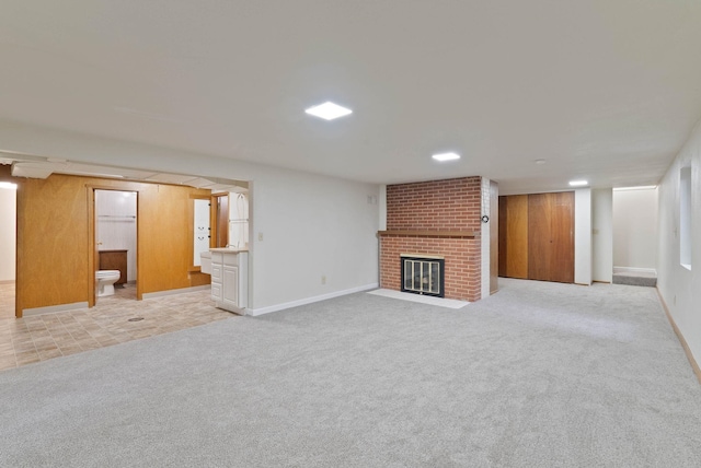
{"label": "open bathroom doorway in wood paneling, toilet visible inside", "polygon": [[94,190],[94,271],[119,272],[114,283],[95,280],[95,302],[137,299],[137,199],[136,191]]}

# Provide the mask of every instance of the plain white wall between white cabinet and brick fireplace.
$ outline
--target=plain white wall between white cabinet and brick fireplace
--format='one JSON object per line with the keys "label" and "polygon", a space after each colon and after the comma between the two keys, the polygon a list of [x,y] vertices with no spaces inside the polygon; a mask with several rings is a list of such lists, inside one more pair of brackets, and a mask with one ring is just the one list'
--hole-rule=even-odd
{"label": "plain white wall between white cabinet and brick fireplace", "polygon": [[377,185],[269,171],[251,192],[252,308],[377,286]]}

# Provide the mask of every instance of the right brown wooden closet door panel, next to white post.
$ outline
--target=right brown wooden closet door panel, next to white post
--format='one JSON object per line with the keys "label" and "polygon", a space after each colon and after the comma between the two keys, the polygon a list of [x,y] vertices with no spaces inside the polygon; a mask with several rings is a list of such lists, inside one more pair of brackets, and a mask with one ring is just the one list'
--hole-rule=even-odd
{"label": "right brown wooden closet door panel, next to white post", "polygon": [[574,192],[528,196],[528,278],[574,282]]}

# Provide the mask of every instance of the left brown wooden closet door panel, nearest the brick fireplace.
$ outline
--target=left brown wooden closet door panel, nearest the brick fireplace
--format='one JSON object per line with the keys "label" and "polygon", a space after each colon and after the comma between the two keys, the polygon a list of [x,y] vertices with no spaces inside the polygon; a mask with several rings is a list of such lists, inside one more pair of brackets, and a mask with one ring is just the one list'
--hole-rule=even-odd
{"label": "left brown wooden closet door panel, nearest the brick fireplace", "polygon": [[499,197],[498,212],[499,276],[528,279],[528,195]]}

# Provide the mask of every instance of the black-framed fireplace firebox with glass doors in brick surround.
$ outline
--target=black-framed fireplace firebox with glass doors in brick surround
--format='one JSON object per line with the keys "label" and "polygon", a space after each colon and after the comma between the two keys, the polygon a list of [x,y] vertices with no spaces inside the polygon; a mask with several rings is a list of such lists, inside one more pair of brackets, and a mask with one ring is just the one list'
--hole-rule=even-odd
{"label": "black-framed fireplace firebox with glass doors in brick surround", "polygon": [[400,258],[402,261],[402,292],[445,296],[446,260],[443,257],[402,254]]}

